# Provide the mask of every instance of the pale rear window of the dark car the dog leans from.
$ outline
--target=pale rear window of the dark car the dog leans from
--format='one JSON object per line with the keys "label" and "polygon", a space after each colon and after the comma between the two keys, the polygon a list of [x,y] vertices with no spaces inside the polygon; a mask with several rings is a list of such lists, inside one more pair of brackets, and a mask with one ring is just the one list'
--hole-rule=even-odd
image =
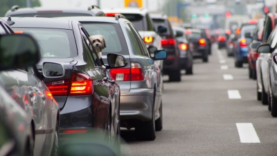
{"label": "pale rear window of the dark car the dog leans from", "polygon": [[35,37],[42,58],[73,58],[78,55],[72,31],[53,28],[12,28]]}

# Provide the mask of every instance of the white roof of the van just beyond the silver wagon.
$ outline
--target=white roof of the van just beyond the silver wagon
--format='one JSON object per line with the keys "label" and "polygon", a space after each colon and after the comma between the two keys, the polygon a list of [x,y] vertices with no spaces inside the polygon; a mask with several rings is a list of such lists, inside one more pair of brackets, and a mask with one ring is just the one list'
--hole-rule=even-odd
{"label": "white roof of the van just beyond the silver wagon", "polygon": [[109,8],[109,9],[102,9],[103,12],[119,12],[122,14],[140,14],[145,16],[148,13],[148,10],[145,8]]}

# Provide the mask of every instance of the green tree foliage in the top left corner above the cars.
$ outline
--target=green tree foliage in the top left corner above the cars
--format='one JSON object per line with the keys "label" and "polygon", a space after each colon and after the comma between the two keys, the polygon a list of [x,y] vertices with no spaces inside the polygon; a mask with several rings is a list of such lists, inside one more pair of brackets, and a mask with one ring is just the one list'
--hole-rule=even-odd
{"label": "green tree foliage in the top left corner above the cars", "polygon": [[[31,6],[41,6],[39,0],[30,0]],[[20,6],[21,8],[27,7],[26,0],[1,0],[0,1],[0,17],[4,17],[6,12],[12,8],[12,6]]]}

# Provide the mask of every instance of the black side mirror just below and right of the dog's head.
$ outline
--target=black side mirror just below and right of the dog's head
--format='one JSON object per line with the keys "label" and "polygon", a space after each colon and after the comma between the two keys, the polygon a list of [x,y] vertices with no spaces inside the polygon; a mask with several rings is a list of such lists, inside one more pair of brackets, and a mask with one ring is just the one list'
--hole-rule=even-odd
{"label": "black side mirror just below and right of the dog's head", "polygon": [[128,64],[124,56],[117,53],[108,53],[107,61],[109,66],[106,69],[126,67]]}

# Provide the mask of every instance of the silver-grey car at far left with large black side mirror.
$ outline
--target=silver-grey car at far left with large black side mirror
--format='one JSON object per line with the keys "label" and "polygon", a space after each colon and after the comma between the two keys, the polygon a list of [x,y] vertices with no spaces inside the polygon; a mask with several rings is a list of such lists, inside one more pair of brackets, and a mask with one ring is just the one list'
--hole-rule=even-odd
{"label": "silver-grey car at far left with large black side mirror", "polygon": [[[30,35],[14,35],[6,20],[0,19],[0,34],[3,38],[0,67],[1,70],[6,69],[0,72],[0,86],[28,114],[26,123],[17,127],[22,132],[17,135],[22,135],[20,141],[24,141],[21,144],[25,144],[26,148],[21,149],[21,152],[25,150],[30,155],[58,155],[60,110],[35,66],[41,56],[38,44]],[[15,121],[12,123],[15,124]],[[25,128],[26,131],[23,130]],[[30,134],[23,133],[28,130],[31,130]]]}

